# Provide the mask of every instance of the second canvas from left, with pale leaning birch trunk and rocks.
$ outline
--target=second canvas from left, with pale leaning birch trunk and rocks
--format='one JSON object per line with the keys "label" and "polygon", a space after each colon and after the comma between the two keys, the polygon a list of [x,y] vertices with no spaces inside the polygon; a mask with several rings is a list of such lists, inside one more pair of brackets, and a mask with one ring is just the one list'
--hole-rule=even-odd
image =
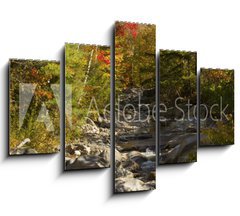
{"label": "second canvas from left, with pale leaning birch trunk and rocks", "polygon": [[110,166],[110,47],[65,45],[65,169]]}

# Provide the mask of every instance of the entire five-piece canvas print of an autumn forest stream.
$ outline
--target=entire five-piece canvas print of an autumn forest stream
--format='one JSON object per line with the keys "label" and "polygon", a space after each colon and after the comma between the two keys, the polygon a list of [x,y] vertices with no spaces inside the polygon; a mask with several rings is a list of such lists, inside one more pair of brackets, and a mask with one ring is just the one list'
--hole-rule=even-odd
{"label": "entire five-piece canvas print of an autumn forest stream", "polygon": [[156,165],[234,144],[234,70],[197,73],[192,51],[160,50],[156,60],[155,25],[114,27],[113,47],[65,43],[61,65],[9,60],[7,153],[38,157],[63,144],[64,171],[112,166],[114,193],[145,193]]}

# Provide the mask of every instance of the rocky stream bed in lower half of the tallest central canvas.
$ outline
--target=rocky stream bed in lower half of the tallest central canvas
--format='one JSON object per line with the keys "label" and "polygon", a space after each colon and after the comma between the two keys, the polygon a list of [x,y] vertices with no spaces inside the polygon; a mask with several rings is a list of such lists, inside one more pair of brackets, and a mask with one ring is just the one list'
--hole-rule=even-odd
{"label": "rocky stream bed in lower half of the tallest central canvas", "polygon": [[[141,103],[148,104],[149,97],[155,97],[155,89],[125,89],[124,96],[120,99],[122,110],[124,105],[131,103],[138,107],[139,95]],[[153,94],[154,93],[154,94]],[[116,122],[116,149],[115,152],[115,183],[116,192],[151,190],[155,187],[155,127],[154,123],[148,120],[148,109],[141,107],[141,112],[132,108],[118,112]],[[136,121],[125,121],[135,116]],[[145,122],[137,121],[137,118],[146,119]]]}

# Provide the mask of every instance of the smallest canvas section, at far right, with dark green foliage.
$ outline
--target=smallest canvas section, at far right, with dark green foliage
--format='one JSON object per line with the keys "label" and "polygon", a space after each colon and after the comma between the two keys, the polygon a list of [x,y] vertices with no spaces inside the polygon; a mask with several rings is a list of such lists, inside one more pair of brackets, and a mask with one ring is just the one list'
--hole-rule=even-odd
{"label": "smallest canvas section, at far right, with dark green foliage", "polygon": [[200,71],[200,146],[234,144],[234,70]]}

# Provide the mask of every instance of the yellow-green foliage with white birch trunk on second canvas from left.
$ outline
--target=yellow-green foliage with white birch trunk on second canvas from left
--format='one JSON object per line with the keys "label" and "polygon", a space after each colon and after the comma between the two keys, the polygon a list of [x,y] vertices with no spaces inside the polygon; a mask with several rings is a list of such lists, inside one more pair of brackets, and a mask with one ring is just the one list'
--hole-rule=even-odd
{"label": "yellow-green foliage with white birch trunk on second canvas from left", "polygon": [[72,109],[71,119],[66,116],[66,143],[70,144],[85,136],[87,122],[98,124],[110,103],[110,47],[66,44],[65,56],[66,85],[72,89],[71,97],[66,91],[65,98]]}

